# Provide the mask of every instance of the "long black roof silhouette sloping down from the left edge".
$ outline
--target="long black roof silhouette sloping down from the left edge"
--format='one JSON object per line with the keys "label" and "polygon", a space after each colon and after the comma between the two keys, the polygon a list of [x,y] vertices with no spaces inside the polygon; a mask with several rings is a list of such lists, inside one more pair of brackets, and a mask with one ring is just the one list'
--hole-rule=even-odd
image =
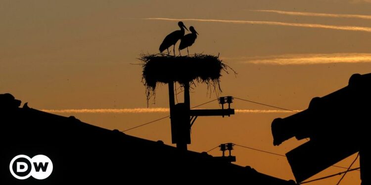
{"label": "long black roof silhouette sloping down from the left edge", "polygon": [[[182,151],[29,107],[10,94],[0,95],[0,184],[141,184],[245,182],[295,185],[208,155]],[[17,180],[9,173],[16,155],[48,156],[53,172],[45,180]],[[3,165],[5,164],[5,165]]]}

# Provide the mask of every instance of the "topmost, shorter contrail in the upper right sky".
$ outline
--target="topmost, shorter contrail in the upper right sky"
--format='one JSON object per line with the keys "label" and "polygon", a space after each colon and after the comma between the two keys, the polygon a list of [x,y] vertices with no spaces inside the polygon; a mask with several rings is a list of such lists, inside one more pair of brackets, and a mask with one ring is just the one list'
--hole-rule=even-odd
{"label": "topmost, shorter contrail in the upper right sky", "polygon": [[332,14],[332,13],[314,13],[314,12],[297,12],[297,11],[280,11],[280,10],[250,10],[258,12],[272,12],[283,15],[298,15],[298,16],[313,16],[313,17],[334,17],[334,18],[358,18],[371,19],[371,15],[356,15],[356,14]]}

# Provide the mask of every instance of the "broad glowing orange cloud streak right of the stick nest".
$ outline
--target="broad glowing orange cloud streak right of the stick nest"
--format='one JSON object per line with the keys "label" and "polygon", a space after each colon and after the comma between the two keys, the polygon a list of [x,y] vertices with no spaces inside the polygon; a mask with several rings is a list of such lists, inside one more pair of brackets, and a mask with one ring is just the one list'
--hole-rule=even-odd
{"label": "broad glowing orange cloud streak right of the stick nest", "polygon": [[290,54],[268,57],[222,58],[234,62],[269,65],[314,65],[371,63],[371,53]]}

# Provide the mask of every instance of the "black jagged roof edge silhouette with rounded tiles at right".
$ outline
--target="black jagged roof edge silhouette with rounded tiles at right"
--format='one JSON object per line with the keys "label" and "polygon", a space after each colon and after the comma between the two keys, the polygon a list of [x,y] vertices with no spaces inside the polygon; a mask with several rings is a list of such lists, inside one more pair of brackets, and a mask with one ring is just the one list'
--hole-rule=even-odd
{"label": "black jagged roof edge silhouette with rounded tiles at right", "polygon": [[297,182],[359,151],[362,185],[371,185],[370,105],[371,74],[353,74],[348,86],[313,98],[307,110],[272,122],[274,145],[292,137],[310,138],[286,153]]}

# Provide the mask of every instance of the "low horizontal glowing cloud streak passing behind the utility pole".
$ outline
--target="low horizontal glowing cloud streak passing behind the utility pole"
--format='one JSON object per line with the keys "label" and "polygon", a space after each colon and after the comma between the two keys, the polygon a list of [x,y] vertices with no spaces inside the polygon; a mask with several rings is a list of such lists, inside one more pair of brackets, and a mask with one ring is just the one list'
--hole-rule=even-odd
{"label": "low horizontal glowing cloud streak passing behind the utility pole", "polygon": [[[169,108],[134,108],[134,109],[43,109],[41,111],[49,113],[167,113]],[[255,110],[255,109],[236,109],[236,113],[292,113],[283,110]],[[300,110],[299,110],[300,111]]]}

